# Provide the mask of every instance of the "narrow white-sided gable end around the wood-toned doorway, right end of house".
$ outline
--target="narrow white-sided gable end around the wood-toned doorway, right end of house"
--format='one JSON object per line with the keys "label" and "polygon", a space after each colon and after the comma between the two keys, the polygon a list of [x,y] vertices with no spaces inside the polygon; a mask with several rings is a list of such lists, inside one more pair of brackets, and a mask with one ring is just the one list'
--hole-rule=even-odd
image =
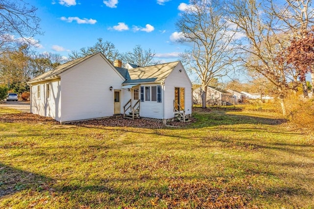
{"label": "narrow white-sided gable end around the wood-toned doorway, right end of house", "polygon": [[[180,72],[179,70],[182,70]],[[164,118],[174,117],[173,112],[173,100],[175,99],[175,87],[185,88],[185,98],[184,98],[184,110],[185,114],[192,114],[192,84],[184,71],[181,63],[179,63],[174,70],[165,79],[164,87]]]}

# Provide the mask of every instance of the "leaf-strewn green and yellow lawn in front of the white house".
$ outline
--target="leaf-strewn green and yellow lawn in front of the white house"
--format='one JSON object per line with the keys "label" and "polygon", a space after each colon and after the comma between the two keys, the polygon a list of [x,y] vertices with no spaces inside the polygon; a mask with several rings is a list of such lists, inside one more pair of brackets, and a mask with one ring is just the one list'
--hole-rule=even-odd
{"label": "leaf-strewn green and yellow lawn in front of the white house", "polygon": [[0,122],[0,208],[314,208],[314,135],[274,113],[193,117],[156,129]]}

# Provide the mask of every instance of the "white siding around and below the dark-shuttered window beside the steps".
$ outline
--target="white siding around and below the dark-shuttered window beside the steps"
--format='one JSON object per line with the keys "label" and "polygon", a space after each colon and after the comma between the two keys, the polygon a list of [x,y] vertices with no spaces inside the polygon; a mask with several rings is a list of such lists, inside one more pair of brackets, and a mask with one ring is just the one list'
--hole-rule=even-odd
{"label": "white siding around and below the dark-shuttered window beside the steps", "polygon": [[[144,86],[157,86],[160,84],[147,84],[147,85],[141,85]],[[140,89],[139,89],[140,90]],[[139,99],[140,99],[140,92],[139,92]],[[145,96],[144,96],[145,97]],[[152,98],[152,95],[151,95]],[[141,117],[150,117],[150,118],[157,118],[157,119],[163,119],[163,93],[161,93],[161,101],[162,102],[157,102],[157,101],[145,101],[140,102],[140,113],[139,115]]]}

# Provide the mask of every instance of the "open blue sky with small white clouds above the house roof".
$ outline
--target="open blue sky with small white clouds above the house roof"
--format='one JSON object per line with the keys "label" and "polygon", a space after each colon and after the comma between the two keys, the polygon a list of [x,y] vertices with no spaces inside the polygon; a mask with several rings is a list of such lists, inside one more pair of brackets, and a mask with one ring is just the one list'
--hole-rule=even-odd
{"label": "open blue sky with small white clouds above the house roof", "polygon": [[188,0],[28,0],[38,8],[44,35],[39,52],[67,57],[72,50],[93,46],[98,38],[119,52],[134,46],[151,48],[162,62],[178,59],[184,46],[176,43],[175,23]]}

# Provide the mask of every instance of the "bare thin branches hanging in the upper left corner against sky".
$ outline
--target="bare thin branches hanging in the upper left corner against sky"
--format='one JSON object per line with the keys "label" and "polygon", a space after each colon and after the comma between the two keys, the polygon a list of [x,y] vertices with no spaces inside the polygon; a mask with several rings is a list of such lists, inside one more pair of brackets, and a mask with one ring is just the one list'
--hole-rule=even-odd
{"label": "bare thin branches hanging in the upper left corner against sky", "polygon": [[36,34],[42,34],[36,10],[24,0],[0,0],[0,53],[25,43],[38,44],[33,39]]}

